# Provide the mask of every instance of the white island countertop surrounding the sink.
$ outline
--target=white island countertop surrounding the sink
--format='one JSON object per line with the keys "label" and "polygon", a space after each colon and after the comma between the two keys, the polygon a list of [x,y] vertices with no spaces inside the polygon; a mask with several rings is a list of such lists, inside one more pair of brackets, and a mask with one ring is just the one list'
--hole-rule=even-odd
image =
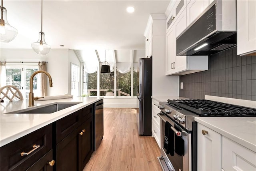
{"label": "white island countertop surrounding the sink", "polygon": [[74,111],[77,111],[92,103],[95,103],[99,99],[103,98],[77,97],[68,99],[34,101],[34,107],[56,102],[82,102],[77,105],[49,114],[8,113],[20,109],[31,108],[28,107],[28,100],[0,103],[0,147],[41,127],[44,127],[54,121],[57,121],[58,119],[61,119],[62,117],[65,117],[70,113],[73,113]]}

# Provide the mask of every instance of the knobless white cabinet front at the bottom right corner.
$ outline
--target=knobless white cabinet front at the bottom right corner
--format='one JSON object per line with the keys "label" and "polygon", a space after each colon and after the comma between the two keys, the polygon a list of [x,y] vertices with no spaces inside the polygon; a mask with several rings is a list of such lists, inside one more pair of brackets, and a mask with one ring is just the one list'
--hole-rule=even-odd
{"label": "knobless white cabinet front at the bottom right corner", "polygon": [[223,136],[222,169],[224,171],[256,171],[256,153]]}

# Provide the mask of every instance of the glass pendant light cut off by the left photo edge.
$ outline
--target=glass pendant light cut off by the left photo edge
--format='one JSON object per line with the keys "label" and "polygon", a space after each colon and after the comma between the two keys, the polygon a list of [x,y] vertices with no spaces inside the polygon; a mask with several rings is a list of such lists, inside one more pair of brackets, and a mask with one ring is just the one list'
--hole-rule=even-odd
{"label": "glass pendant light cut off by the left photo edge", "polygon": [[7,21],[7,10],[3,6],[3,0],[1,1],[1,19],[0,19],[0,40],[1,42],[10,42],[18,34],[18,30],[12,27]]}

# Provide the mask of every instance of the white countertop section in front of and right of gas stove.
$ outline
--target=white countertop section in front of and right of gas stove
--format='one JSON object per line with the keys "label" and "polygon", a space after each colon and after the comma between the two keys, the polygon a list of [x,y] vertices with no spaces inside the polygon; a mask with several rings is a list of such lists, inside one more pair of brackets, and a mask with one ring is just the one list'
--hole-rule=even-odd
{"label": "white countertop section in front of and right of gas stove", "polygon": [[195,121],[256,152],[256,117],[195,117]]}

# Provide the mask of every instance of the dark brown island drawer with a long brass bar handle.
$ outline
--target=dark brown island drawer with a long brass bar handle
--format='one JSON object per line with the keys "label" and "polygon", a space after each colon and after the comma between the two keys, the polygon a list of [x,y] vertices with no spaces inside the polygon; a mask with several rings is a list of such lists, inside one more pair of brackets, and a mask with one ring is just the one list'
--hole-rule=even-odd
{"label": "dark brown island drawer with a long brass bar handle", "polygon": [[[33,145],[40,147],[33,148]],[[34,149],[34,151],[32,151]],[[52,149],[52,124],[42,127],[0,148],[1,171],[28,169]],[[29,153],[21,156],[22,152]]]}

